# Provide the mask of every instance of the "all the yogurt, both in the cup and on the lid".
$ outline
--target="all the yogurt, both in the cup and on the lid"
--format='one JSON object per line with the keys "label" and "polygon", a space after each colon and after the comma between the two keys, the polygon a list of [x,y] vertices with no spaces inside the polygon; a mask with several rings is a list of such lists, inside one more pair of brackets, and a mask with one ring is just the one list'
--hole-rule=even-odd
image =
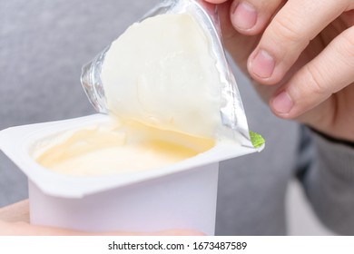
{"label": "all the yogurt, both in the cup and on the lid", "polygon": [[56,172],[101,175],[164,167],[210,150],[221,126],[221,80],[210,46],[189,14],[133,24],[102,66],[115,124],[67,132],[36,161]]}

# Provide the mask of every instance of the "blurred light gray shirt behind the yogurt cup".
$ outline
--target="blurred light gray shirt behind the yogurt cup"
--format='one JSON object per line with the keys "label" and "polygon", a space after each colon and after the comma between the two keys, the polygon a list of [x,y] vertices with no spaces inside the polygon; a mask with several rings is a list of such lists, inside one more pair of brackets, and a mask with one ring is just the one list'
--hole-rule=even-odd
{"label": "blurred light gray shirt behind the yogurt cup", "polygon": [[[0,0],[0,130],[93,113],[79,82],[82,65],[157,2]],[[297,187],[286,200],[298,125],[274,117],[232,68],[250,128],[264,136],[267,148],[221,163],[217,234],[286,234],[286,224],[290,234],[325,233],[311,231],[308,208],[296,217],[302,208]],[[26,197],[25,176],[0,152],[0,206]],[[304,228],[293,227],[301,221]]]}

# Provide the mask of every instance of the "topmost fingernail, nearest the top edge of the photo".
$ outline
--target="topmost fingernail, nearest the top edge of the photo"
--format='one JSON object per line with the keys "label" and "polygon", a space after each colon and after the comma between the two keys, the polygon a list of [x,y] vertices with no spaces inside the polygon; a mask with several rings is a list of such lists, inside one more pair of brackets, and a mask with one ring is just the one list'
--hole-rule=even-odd
{"label": "topmost fingernail, nearest the top edge of the photo", "polygon": [[237,5],[235,11],[232,14],[232,24],[241,29],[249,30],[257,22],[256,9],[249,3],[242,2]]}

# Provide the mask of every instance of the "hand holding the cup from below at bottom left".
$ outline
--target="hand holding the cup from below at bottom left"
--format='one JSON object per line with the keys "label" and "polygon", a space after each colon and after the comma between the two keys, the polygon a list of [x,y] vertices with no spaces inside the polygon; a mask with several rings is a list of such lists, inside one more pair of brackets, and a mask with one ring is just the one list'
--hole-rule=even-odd
{"label": "hand holding the cup from below at bottom left", "polygon": [[136,232],[83,232],[77,230],[65,230],[54,227],[35,226],[29,224],[28,200],[15,203],[14,205],[0,209],[0,236],[78,236],[78,235],[164,235],[164,236],[192,236],[202,235],[194,230],[164,230],[154,233]]}

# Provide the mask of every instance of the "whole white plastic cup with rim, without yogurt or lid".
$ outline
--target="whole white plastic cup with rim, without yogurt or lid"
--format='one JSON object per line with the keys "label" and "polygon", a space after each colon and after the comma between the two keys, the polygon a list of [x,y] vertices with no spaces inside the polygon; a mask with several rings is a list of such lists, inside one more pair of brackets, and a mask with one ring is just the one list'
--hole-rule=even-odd
{"label": "whole white plastic cup with rim, without yogurt or lid", "polygon": [[219,162],[262,149],[221,142],[167,167],[108,176],[64,175],[34,161],[40,143],[108,121],[108,115],[94,114],[0,132],[0,150],[28,178],[31,223],[93,232],[192,229],[213,235]]}

